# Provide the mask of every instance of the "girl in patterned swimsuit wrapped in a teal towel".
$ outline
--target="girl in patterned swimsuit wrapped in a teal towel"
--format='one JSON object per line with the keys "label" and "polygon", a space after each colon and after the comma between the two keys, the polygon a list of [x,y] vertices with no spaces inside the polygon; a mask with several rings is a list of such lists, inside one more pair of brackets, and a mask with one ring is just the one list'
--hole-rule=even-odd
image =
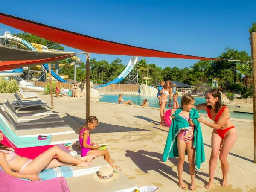
{"label": "girl in patterned swimsuit wrapped in a teal towel", "polygon": [[169,157],[178,157],[178,177],[181,189],[186,189],[183,183],[182,172],[185,155],[188,155],[189,172],[191,175],[190,190],[195,190],[195,170],[200,169],[205,161],[204,145],[198,111],[193,108],[195,99],[189,94],[183,95],[181,107],[175,111],[170,131],[164,148],[163,161]]}

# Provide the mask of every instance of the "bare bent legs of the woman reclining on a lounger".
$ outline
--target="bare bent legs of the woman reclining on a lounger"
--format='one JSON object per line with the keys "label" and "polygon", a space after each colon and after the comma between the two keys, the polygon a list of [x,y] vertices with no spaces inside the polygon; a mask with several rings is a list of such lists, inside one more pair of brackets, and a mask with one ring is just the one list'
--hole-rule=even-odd
{"label": "bare bent legs of the woman reclining on a lounger", "polygon": [[[58,163],[54,160],[53,164],[51,164],[53,158],[57,156],[58,157]],[[65,151],[61,150],[58,146],[52,147],[45,151],[44,153],[40,154],[38,157],[36,157],[34,160],[32,160],[31,163],[29,163],[26,168],[23,170],[23,174],[39,174],[44,169],[48,168],[49,166],[51,168],[58,167],[56,165],[61,165],[63,163],[68,163],[66,165],[76,165],[78,167],[81,166],[89,166],[91,163],[86,162],[84,160],[78,159],[76,157],[71,156],[70,154],[66,153]]]}

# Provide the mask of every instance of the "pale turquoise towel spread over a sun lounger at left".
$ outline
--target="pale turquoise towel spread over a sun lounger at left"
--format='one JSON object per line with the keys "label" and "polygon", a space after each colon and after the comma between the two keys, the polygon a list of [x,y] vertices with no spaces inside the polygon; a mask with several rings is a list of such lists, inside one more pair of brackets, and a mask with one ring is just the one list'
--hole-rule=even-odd
{"label": "pale turquoise towel spread over a sun lounger at left", "polygon": [[3,134],[17,147],[35,147],[49,145],[52,140],[52,136],[49,135],[46,140],[38,140],[37,137],[19,137],[9,127],[6,119],[0,114],[0,130]]}

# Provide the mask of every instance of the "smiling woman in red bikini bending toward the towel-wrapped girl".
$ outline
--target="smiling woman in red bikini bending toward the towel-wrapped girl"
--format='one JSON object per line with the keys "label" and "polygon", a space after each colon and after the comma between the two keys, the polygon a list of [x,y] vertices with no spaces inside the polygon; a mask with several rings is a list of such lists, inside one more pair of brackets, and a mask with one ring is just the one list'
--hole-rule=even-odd
{"label": "smiling woman in red bikini bending toward the towel-wrapped girl", "polygon": [[[236,142],[236,129],[230,121],[230,112],[226,105],[221,103],[221,93],[217,89],[211,89],[204,94],[206,103],[196,105],[198,111],[205,110],[212,122],[208,122],[202,117],[198,118],[198,122],[213,128],[212,131],[212,152],[209,160],[209,182],[204,186],[206,189],[211,189],[215,170],[217,167],[218,155],[221,160],[221,170],[223,180],[221,185],[228,186],[228,161],[227,155]],[[174,113],[174,110],[172,110]],[[171,115],[172,116],[172,115]],[[221,152],[219,154],[221,148]]]}

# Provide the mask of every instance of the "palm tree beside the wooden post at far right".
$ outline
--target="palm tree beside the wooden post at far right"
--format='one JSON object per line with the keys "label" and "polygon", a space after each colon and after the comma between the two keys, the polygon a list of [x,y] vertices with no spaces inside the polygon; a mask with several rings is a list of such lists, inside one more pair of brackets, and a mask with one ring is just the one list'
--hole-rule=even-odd
{"label": "palm tree beside the wooden post at far right", "polygon": [[241,73],[242,76],[244,76],[243,84],[246,87],[249,87],[253,77],[252,63],[243,62],[243,63],[236,64],[236,70],[238,70],[238,72]]}

